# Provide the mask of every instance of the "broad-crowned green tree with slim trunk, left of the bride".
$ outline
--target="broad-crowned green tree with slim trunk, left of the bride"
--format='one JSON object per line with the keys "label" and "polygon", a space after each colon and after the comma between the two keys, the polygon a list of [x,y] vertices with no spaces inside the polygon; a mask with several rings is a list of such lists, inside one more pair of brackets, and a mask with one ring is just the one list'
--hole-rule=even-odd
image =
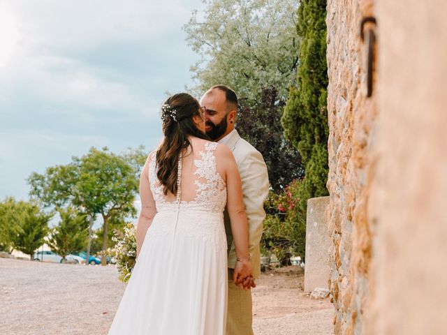
{"label": "broad-crowned green tree with slim trunk, left of the bride", "polygon": [[[140,149],[119,156],[107,148],[91,148],[85,156],[73,157],[68,165],[47,168],[45,174],[31,174],[30,195],[43,200],[47,206],[71,204],[88,214],[91,223],[96,215],[101,216],[103,250],[106,250],[110,217],[136,214],[133,200],[138,192],[140,154]],[[105,265],[104,258],[101,263]]]}

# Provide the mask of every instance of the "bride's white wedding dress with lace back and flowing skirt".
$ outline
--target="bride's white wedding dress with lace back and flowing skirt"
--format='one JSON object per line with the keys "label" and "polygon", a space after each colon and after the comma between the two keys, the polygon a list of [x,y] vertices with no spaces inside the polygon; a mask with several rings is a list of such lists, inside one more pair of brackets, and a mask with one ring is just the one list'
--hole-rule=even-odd
{"label": "bride's white wedding dress with lace back and flowing skirt", "polygon": [[[149,182],[157,213],[147,230],[109,335],[223,335],[226,325],[226,185],[216,169],[217,143],[193,151],[181,185],[195,197],[169,202],[156,177]],[[181,161],[179,170],[182,171]],[[191,171],[192,171],[191,170]],[[186,179],[186,180],[184,180]],[[193,190],[194,191],[194,190]]]}

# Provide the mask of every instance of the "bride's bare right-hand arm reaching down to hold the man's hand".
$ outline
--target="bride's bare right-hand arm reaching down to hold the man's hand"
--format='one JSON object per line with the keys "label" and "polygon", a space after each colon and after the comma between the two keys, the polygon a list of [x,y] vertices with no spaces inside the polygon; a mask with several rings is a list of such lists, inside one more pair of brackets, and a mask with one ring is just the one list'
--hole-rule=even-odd
{"label": "bride's bare right-hand arm reaching down to hold the man's hand", "polygon": [[[247,214],[245,213],[244,198],[242,196],[242,182],[233,153],[226,146],[222,146],[223,162],[226,170],[226,207],[230,216],[231,232],[235,244],[236,261],[233,281],[241,283],[240,278],[246,278],[252,273],[249,260],[249,231]],[[240,278],[238,278],[240,277]]]}

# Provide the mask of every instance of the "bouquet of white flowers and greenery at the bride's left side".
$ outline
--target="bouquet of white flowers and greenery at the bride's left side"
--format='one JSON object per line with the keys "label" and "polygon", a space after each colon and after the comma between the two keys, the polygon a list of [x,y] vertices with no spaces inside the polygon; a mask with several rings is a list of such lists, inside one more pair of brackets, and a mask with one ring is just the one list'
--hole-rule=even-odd
{"label": "bouquet of white flowers and greenery at the bride's left side", "polygon": [[137,229],[133,223],[128,223],[124,227],[124,233],[116,230],[115,237],[112,239],[117,242],[115,248],[108,249],[108,255],[115,256],[117,260],[117,269],[119,280],[127,283],[131,278],[133,267],[137,255]]}

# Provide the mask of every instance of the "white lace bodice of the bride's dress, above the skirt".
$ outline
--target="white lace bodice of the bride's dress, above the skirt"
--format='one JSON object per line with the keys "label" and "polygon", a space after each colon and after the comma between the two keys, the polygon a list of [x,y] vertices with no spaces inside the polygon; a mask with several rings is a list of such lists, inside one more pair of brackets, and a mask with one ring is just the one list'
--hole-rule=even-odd
{"label": "white lace bodice of the bride's dress, above the skirt", "polygon": [[157,211],[177,211],[177,209],[181,211],[223,211],[226,204],[226,185],[216,168],[214,151],[216,151],[217,145],[214,142],[205,142],[203,150],[198,151],[199,159],[193,160],[195,167],[193,175],[181,174],[182,181],[183,179],[192,179],[193,185],[196,186],[195,197],[189,201],[184,201],[182,198],[179,202],[166,199],[166,195],[163,194],[163,186],[161,186],[156,177],[155,157],[151,158],[149,163],[149,183]]}

